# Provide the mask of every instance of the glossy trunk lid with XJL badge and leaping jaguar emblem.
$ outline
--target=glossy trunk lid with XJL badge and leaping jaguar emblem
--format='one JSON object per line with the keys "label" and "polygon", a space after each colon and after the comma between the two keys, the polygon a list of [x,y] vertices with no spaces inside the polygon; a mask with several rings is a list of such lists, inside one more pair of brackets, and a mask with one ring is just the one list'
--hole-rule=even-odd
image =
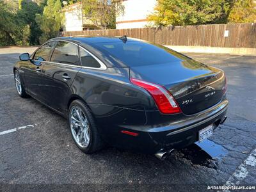
{"label": "glossy trunk lid with XJL badge and leaping jaguar emblem", "polygon": [[191,59],[131,67],[130,76],[166,88],[186,115],[217,104],[225,90],[222,70]]}

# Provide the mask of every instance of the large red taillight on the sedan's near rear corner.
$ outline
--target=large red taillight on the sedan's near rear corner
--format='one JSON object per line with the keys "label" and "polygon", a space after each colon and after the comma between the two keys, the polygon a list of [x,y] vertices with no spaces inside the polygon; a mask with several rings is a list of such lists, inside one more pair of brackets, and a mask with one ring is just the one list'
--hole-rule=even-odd
{"label": "large red taillight on the sedan's near rear corner", "polygon": [[136,84],[141,88],[144,88],[150,93],[150,95],[152,95],[161,113],[181,113],[181,110],[178,104],[176,103],[175,99],[172,97],[171,93],[169,93],[165,88],[163,88],[163,86],[154,83],[148,83],[146,81],[134,78],[131,78],[130,80],[133,84]]}

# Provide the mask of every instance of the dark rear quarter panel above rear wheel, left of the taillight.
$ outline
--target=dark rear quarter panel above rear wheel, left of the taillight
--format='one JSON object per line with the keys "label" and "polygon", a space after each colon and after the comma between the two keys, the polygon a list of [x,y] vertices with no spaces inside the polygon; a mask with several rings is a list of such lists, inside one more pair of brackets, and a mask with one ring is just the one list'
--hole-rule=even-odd
{"label": "dark rear quarter panel above rear wheel, left of the taillight", "polygon": [[72,84],[72,93],[79,95],[88,105],[157,110],[149,93],[130,83],[129,68],[108,68],[103,71],[81,68]]}

